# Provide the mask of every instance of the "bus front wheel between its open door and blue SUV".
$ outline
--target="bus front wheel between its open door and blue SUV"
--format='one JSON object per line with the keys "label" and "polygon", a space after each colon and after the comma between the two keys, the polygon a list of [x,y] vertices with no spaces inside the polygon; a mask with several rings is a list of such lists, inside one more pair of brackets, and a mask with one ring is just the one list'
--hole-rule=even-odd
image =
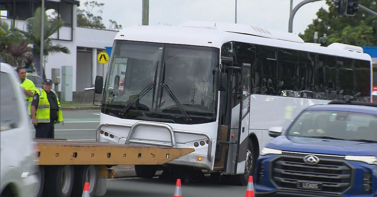
{"label": "bus front wheel between its open door and blue SUV", "polygon": [[237,174],[234,175],[234,183],[236,185],[247,185],[249,176],[253,175],[253,169],[254,169],[254,148],[253,148],[253,141],[249,138],[248,139],[248,147],[246,152],[246,162],[245,162],[245,172],[244,174]]}

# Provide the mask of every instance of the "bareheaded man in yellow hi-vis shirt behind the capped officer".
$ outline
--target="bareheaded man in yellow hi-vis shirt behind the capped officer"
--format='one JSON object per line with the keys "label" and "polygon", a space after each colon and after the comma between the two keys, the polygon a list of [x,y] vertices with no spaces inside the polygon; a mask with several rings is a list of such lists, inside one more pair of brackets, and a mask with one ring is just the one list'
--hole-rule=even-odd
{"label": "bareheaded man in yellow hi-vis shirt behind the capped officer", "polygon": [[16,69],[18,77],[20,78],[23,91],[25,92],[25,99],[28,102],[28,113],[31,115],[30,107],[31,107],[31,101],[33,100],[33,95],[35,93],[35,85],[34,82],[30,79],[26,78],[26,69],[25,67],[17,67]]}

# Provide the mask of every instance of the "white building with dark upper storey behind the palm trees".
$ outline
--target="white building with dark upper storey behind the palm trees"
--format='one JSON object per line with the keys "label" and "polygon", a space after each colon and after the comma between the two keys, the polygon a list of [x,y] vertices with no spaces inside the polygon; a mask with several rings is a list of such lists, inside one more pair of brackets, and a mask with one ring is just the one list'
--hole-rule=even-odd
{"label": "white building with dark upper storey behind the palm trees", "polygon": [[[76,0],[45,0],[47,13],[54,10],[64,21],[64,26],[52,35],[54,44],[66,46],[70,54],[54,53],[46,58],[46,77],[51,78],[51,69],[62,66],[73,67],[72,89],[83,92],[84,88],[93,87],[96,75],[106,75],[107,64],[97,61],[97,54],[111,47],[117,31],[77,27]],[[26,30],[27,20],[41,6],[40,0],[1,0],[1,20],[18,29]],[[59,90],[61,90],[61,86]]]}

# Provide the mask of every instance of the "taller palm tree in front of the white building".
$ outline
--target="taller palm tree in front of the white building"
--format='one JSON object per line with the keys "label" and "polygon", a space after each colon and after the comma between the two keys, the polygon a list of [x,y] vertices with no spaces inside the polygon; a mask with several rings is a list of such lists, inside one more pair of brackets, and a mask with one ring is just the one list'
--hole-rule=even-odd
{"label": "taller palm tree in front of the white building", "polygon": [[[35,60],[35,69],[39,76],[46,79],[46,74],[44,68],[40,65],[40,46],[41,46],[41,8],[37,8],[34,12],[34,18],[29,20],[28,31],[20,31],[25,35],[26,39],[33,45],[32,53]],[[53,45],[52,39],[49,38],[51,35],[55,34],[60,27],[64,25],[63,20],[60,18],[54,18],[48,20],[46,13],[44,13],[44,43],[43,43],[43,55],[48,56],[51,53],[63,52],[69,54],[69,49],[67,47],[61,46],[60,44]]]}

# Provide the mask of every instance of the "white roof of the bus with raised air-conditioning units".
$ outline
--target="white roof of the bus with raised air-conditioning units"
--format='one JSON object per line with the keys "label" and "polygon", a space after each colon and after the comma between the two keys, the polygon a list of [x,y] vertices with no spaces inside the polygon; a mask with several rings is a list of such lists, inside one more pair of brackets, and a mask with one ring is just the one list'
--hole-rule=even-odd
{"label": "white roof of the bus with raised air-conditioning units", "polygon": [[187,44],[219,49],[228,41],[239,41],[371,61],[371,57],[358,46],[333,43],[324,47],[305,43],[293,33],[232,23],[191,21],[181,26],[132,26],[118,32],[115,40]]}

